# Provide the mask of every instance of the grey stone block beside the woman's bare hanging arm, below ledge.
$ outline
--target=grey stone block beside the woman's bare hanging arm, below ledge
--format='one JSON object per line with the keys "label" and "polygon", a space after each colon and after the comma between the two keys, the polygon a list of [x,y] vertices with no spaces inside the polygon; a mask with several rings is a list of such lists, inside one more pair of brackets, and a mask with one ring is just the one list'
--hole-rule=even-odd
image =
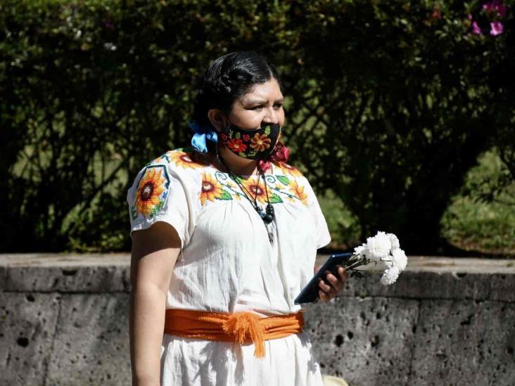
{"label": "grey stone block beside the woman's bare hanging arm, below ledge", "polygon": [[128,294],[63,295],[49,385],[130,385]]}

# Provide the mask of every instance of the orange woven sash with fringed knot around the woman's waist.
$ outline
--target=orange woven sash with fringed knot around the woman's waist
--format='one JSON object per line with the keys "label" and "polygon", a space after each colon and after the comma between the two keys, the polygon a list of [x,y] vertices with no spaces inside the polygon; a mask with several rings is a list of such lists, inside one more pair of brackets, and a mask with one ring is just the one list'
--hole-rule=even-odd
{"label": "orange woven sash with fringed knot around the woman's waist", "polygon": [[301,333],[304,317],[297,314],[261,318],[251,312],[222,314],[185,309],[167,309],[165,333],[180,337],[222,340],[240,344],[253,342],[254,356],[265,356],[265,340]]}

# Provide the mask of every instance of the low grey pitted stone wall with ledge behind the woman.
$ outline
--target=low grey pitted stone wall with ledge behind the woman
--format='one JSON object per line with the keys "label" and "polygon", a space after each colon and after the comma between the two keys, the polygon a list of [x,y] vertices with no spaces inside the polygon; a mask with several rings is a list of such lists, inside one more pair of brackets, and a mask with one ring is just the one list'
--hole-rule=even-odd
{"label": "low grey pitted stone wall with ledge behind the woman", "polygon": [[[515,385],[514,279],[506,260],[410,257],[395,285],[312,304],[305,330],[350,386]],[[129,385],[128,292],[128,255],[0,255],[0,385]]]}

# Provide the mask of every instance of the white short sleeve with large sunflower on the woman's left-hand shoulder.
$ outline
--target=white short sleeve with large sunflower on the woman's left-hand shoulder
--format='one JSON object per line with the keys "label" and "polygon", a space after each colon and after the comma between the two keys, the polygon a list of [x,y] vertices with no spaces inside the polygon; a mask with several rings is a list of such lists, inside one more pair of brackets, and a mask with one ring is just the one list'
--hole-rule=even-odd
{"label": "white short sleeve with large sunflower on the woman's left-hand shoulder", "polygon": [[191,202],[185,176],[179,175],[170,164],[147,165],[127,191],[131,234],[164,221],[174,227],[184,247],[189,244],[194,226]]}

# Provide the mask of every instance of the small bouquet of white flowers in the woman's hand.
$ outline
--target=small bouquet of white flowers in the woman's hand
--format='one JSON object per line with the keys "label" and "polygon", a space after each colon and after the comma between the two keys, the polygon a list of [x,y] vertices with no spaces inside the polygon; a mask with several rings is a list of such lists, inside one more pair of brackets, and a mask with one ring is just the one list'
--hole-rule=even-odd
{"label": "small bouquet of white flowers in the woman's hand", "polygon": [[407,257],[400,249],[399,239],[393,233],[378,232],[376,236],[367,238],[367,243],[355,247],[354,254],[343,265],[350,277],[362,277],[360,266],[368,264],[384,264],[386,268],[381,277],[381,284],[395,283],[399,274],[406,269]]}

